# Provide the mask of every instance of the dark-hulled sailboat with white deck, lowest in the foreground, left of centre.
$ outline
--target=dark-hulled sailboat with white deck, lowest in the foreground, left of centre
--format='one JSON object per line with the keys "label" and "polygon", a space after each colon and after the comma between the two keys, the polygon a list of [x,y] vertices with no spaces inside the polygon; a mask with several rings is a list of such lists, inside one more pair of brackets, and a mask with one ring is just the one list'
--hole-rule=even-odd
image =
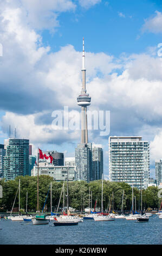
{"label": "dark-hulled sailboat with white deck, lowest in the foreground, left of centre", "polygon": [[[78,222],[80,222],[80,218],[78,217],[73,217],[73,216],[69,216],[70,212],[69,212],[69,199],[68,199],[68,172],[67,172],[67,215],[64,213],[64,182],[63,182],[63,186],[62,186],[62,191],[63,191],[63,215],[59,216],[59,217],[54,217],[54,225],[55,226],[61,226],[61,225],[77,225]],[[61,196],[62,196],[62,191],[61,191]],[[61,196],[60,196],[60,200],[61,200]],[[60,200],[59,200],[59,205],[60,205]],[[59,209],[59,205],[57,207],[57,211]]]}

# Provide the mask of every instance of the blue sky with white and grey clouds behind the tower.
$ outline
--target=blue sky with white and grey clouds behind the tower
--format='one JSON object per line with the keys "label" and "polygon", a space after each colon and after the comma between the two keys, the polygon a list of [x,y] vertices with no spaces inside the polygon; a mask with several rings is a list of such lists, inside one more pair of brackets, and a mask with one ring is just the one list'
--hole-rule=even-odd
{"label": "blue sky with white and grey clouds behind the tower", "polygon": [[[16,127],[42,150],[74,156],[80,130],[56,130],[55,111],[80,111],[85,38],[89,111],[109,111],[110,132],[89,130],[102,144],[108,179],[108,137],[150,142],[150,176],[162,158],[162,3],[153,0],[0,0],[0,143]],[[160,45],[161,44],[161,45]],[[105,113],[104,112],[104,113]],[[59,112],[60,113],[60,112]]]}

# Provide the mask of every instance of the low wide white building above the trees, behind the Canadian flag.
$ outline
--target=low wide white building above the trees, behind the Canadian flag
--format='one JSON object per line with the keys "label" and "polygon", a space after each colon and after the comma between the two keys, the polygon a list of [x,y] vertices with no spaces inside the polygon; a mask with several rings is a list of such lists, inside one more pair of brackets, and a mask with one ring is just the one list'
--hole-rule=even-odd
{"label": "low wide white building above the trees, behind the Canadian flag", "polygon": [[[31,176],[37,176],[37,169],[38,167],[35,165],[31,170]],[[47,163],[46,161],[39,161],[39,175],[49,175],[53,177],[55,181],[67,180],[67,176],[69,181],[74,181],[75,172],[75,166],[55,166],[54,164]]]}

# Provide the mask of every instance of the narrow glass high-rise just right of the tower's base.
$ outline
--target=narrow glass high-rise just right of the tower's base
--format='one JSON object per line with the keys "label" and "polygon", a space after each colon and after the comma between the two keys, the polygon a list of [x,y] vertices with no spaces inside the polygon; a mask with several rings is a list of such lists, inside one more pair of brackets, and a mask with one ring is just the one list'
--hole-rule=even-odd
{"label": "narrow glass high-rise just right of the tower's base", "polygon": [[92,180],[101,180],[103,173],[103,149],[102,145],[92,145]]}

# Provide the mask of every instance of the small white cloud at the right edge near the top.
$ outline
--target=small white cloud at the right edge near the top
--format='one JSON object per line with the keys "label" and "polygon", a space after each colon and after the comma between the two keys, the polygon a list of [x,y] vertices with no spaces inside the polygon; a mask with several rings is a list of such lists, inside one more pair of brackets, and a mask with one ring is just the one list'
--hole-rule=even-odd
{"label": "small white cloud at the right edge near the top", "polygon": [[162,33],[162,13],[155,11],[155,16],[145,20],[142,26],[142,31],[148,31],[152,33]]}

